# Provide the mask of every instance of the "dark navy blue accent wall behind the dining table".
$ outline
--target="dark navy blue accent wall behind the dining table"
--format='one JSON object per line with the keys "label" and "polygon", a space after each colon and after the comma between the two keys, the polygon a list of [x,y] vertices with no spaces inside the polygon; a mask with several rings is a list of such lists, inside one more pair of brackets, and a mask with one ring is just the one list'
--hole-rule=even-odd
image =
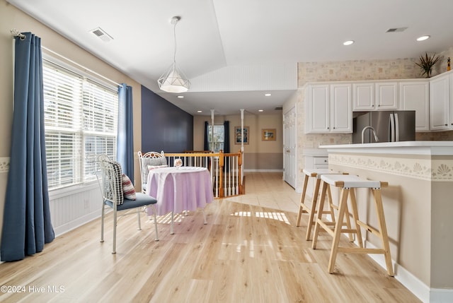
{"label": "dark navy blue accent wall behind the dining table", "polygon": [[193,116],[142,85],[142,152],[193,150]]}

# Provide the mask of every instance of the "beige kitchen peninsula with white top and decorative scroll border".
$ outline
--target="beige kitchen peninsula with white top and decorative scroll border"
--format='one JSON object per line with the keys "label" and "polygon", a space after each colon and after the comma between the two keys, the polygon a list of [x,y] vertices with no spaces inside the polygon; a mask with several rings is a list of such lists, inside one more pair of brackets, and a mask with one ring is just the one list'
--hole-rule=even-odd
{"label": "beige kitchen peninsula with white top and decorative scroll border", "polygon": [[[328,167],[389,182],[382,189],[395,277],[423,302],[453,302],[453,141],[321,145]],[[376,226],[369,193],[357,189],[361,218]],[[365,234],[367,245],[380,246]],[[385,267],[380,256],[372,256]]]}

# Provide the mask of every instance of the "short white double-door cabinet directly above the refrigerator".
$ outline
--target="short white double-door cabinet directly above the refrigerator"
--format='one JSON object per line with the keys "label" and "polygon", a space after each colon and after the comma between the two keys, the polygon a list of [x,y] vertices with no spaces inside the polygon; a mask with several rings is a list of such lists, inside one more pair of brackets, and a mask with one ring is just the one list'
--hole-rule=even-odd
{"label": "short white double-door cabinet directly above the refrigerator", "polygon": [[398,109],[398,83],[396,82],[357,82],[352,84],[352,110]]}

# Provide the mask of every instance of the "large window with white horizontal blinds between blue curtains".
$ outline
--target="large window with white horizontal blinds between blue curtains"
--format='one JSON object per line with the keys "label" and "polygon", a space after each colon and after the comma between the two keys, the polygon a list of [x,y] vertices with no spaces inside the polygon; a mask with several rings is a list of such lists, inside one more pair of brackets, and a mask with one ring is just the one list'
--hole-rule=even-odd
{"label": "large window with white horizontal blinds between blue curtains", "polygon": [[47,60],[42,73],[49,189],[92,181],[96,155],[116,156],[118,93]]}

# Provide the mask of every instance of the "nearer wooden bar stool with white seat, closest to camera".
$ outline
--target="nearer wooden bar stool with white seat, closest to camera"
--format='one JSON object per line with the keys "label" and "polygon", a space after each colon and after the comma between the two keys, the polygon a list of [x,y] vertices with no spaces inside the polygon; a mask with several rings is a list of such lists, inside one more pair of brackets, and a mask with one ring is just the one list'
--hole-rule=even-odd
{"label": "nearer wooden bar stool with white seat, closest to camera", "polygon": [[[387,273],[391,276],[394,275],[394,269],[391,264],[391,256],[390,256],[390,246],[389,246],[389,237],[387,235],[387,228],[384,218],[384,208],[382,206],[382,196],[381,196],[381,188],[386,187],[389,184],[387,182],[380,182],[380,181],[372,181],[367,179],[362,179],[357,176],[353,175],[345,175],[345,174],[325,174],[321,176],[321,180],[323,183],[323,189],[321,191],[321,200],[319,203],[319,208],[323,207],[323,196],[326,196],[326,191],[328,191],[328,185],[337,186],[341,188],[341,196],[340,196],[340,203],[338,205],[338,216],[336,218],[336,224],[333,230],[326,224],[325,221],[322,220],[321,214],[318,214],[318,218],[316,219],[316,225],[314,228],[314,236],[313,236],[313,243],[311,247],[316,249],[316,241],[318,239],[319,234],[319,227],[323,227],[328,234],[331,234],[333,237],[332,248],[331,248],[331,256],[328,261],[328,273],[333,273],[333,268],[335,266],[336,256],[338,252],[349,252],[355,254],[384,254],[385,263],[387,268]],[[372,194],[374,196],[374,205],[376,206],[376,213],[377,219],[379,222],[379,230],[374,229],[373,227],[367,225],[365,222],[359,220],[359,215],[357,212],[357,201],[355,200],[355,192],[354,189],[356,188],[367,188],[372,190]],[[343,222],[343,217],[345,215],[345,210],[348,205],[348,196],[350,196],[351,208],[352,208],[352,218],[354,219],[355,223],[355,230],[350,228],[343,229],[342,225],[338,222]],[[329,223],[329,222],[327,222]],[[362,233],[360,231],[360,227],[364,227],[366,230],[375,234],[377,237],[381,239],[382,242],[382,249],[367,249],[363,247],[363,240],[362,240]],[[357,242],[359,247],[340,247],[340,236],[342,233],[356,233],[357,234]]]}

